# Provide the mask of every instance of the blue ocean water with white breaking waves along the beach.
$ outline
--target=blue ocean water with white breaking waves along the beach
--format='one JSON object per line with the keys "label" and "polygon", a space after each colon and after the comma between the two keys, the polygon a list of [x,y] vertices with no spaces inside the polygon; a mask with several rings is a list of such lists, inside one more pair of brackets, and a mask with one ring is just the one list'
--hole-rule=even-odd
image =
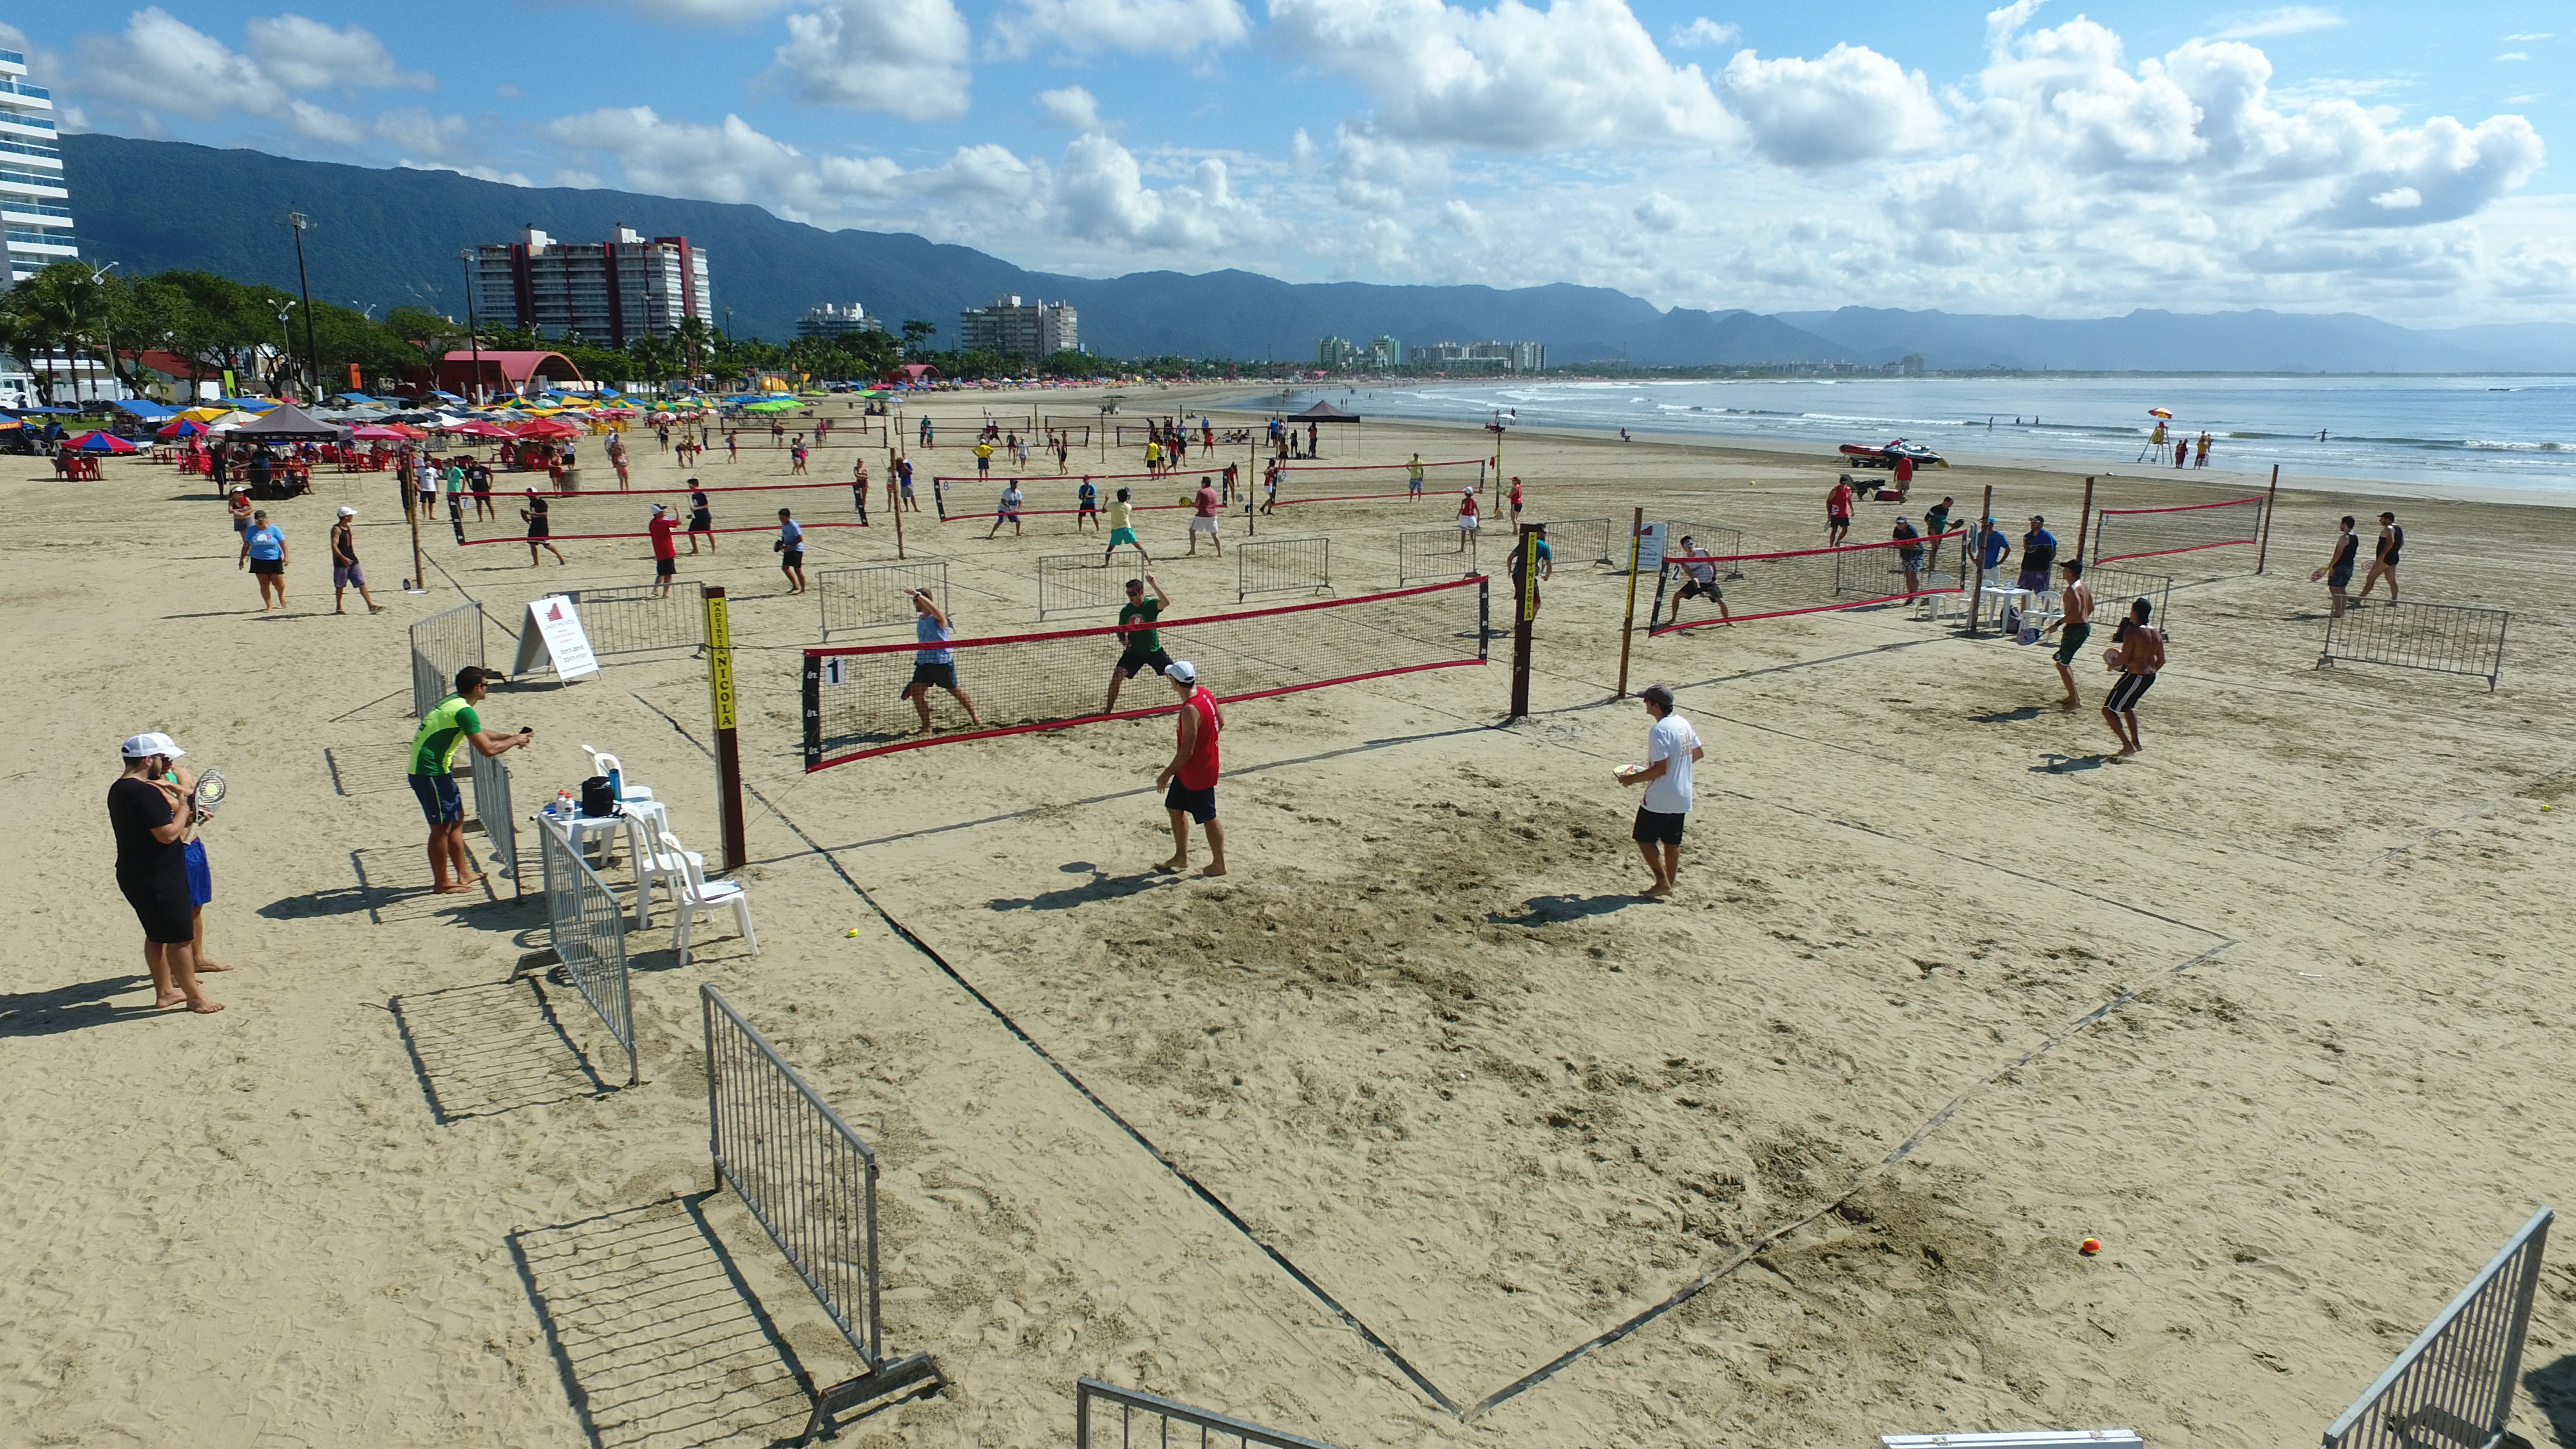
{"label": "blue ocean water with white breaking waves along the beach", "polygon": [[[2210,467],[2282,480],[2478,485],[2576,498],[2576,376],[1909,376],[1747,382],[1391,382],[1247,400],[1363,415],[1808,443],[1909,438],[1940,454],[2136,469],[2156,418],[2208,431]],[[2324,433],[2324,438],[2318,438]]]}

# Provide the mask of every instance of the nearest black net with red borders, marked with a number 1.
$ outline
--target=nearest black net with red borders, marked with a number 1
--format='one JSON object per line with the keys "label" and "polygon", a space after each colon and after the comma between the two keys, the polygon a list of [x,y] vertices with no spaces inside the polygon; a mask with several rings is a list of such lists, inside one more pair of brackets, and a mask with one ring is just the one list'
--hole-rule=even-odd
{"label": "nearest black net with red borders, marked with a number 1", "polygon": [[[1131,575],[1118,575],[1126,583]],[[1236,614],[1164,619],[1162,650],[1198,665],[1218,701],[1267,699],[1337,683],[1404,676],[1486,660],[1486,580],[1461,578],[1422,588],[1285,603]],[[1103,719],[1141,719],[1177,709],[1159,681],[1136,681],[1136,701],[1103,714],[1110,670],[1126,650],[1115,624],[1048,634],[951,639],[951,670],[922,665],[920,645],[842,645],[804,652],[804,761],[806,771],[914,750],[958,745],[1028,730],[1064,730]],[[920,676],[951,676],[974,701],[974,719],[943,688],[925,688],[933,722],[948,732],[925,735],[904,688]],[[958,730],[958,724],[966,724]]]}

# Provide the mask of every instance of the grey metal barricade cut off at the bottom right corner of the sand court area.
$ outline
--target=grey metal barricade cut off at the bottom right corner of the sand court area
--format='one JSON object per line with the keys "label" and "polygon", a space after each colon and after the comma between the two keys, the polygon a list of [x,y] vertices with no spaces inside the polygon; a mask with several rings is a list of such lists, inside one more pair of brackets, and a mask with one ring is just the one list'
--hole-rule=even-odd
{"label": "grey metal barricade cut off at the bottom right corner of the sand court area", "polygon": [[2522,1225],[2396,1364],[2326,1428],[2324,1449],[2496,1449],[2514,1413],[2553,1209]]}

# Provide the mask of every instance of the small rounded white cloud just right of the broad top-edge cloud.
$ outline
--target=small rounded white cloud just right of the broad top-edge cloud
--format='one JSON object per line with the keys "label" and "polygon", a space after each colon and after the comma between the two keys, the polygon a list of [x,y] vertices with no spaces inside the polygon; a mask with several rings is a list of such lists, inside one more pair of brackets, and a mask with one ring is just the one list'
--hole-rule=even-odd
{"label": "small rounded white cloud just right of the broad top-edge cloud", "polygon": [[1726,95],[1752,144],[1780,165],[1844,165],[1919,152],[1940,142],[1942,113],[1924,75],[1865,46],[1819,59],[1726,62]]}

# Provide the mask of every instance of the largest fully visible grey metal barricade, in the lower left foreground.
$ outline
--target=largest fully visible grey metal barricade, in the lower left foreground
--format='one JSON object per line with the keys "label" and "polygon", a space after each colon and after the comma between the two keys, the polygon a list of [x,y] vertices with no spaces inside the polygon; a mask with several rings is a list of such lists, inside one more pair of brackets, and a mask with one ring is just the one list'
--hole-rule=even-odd
{"label": "largest fully visible grey metal barricade, in the lower left foreground", "polygon": [[698,1008],[706,1024],[706,1150],[716,1186],[734,1189],[866,1364],[860,1377],[814,1397],[806,1436],[829,1431],[832,1415],[845,1408],[940,1382],[927,1354],[886,1354],[876,1150],[721,990],[701,985]]}

